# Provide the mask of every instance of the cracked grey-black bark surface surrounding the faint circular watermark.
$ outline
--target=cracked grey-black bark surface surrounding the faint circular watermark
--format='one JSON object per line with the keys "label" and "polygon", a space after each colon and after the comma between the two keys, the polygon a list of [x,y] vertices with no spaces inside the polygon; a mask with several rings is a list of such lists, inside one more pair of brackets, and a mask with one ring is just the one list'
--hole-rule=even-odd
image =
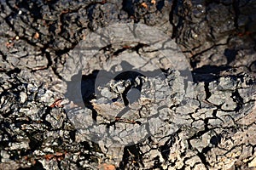
{"label": "cracked grey-black bark surface surrounding the faint circular watermark", "polygon": [[[253,0],[3,0],[0,4],[0,169],[256,168]],[[116,106],[95,99],[92,85],[101,65],[114,59],[119,63],[127,53],[147,52],[143,44],[131,42],[129,47],[112,44],[88,58],[84,87],[67,84],[65,64],[75,56],[75,46],[90,32],[116,23],[145,24],[172,37],[189,60],[193,81],[182,83],[183,75],[168,70],[163,62],[162,76],[131,73],[132,78],[106,83],[99,93],[102,98],[111,96]],[[157,87],[159,79],[168,83]],[[184,93],[183,86],[193,92]],[[152,121],[157,130],[143,133],[137,144],[96,143],[76,128],[61,104],[52,105],[65,97],[63,87],[82,88],[84,109],[102,127],[140,127],[147,122],[145,117],[158,114]],[[140,102],[131,102],[131,88],[141,92]],[[155,88],[165,92],[155,94],[166,98],[158,105],[150,103],[154,97],[148,95]],[[71,103],[78,114],[79,102]],[[127,105],[139,114],[118,115]]]}

